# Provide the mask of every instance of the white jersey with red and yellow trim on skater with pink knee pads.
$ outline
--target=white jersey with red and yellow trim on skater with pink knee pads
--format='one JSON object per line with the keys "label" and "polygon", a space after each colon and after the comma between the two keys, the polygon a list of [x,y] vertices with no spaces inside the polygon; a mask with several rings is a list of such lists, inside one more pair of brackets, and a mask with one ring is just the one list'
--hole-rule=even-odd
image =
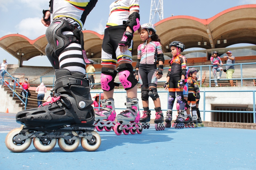
{"label": "white jersey with red and yellow trim on skater with pink knee pads", "polygon": [[130,11],[139,10],[139,0],[116,0],[109,9],[106,27],[123,25],[128,20]]}

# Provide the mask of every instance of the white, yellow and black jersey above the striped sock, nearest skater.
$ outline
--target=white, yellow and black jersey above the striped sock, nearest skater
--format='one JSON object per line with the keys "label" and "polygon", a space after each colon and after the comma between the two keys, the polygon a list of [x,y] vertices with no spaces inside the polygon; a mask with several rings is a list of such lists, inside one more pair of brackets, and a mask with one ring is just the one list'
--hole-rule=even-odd
{"label": "white, yellow and black jersey above the striped sock, nearest skater", "polygon": [[95,7],[98,0],[52,0],[51,22],[55,19],[65,19],[76,25],[78,29],[84,26],[87,15]]}

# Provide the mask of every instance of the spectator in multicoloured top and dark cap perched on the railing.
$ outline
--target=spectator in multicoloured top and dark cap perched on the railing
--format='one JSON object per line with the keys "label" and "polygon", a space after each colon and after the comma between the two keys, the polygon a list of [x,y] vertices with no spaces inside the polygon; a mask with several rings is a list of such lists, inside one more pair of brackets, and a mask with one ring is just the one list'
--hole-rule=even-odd
{"label": "spectator in multicoloured top and dark cap perched on the railing", "polygon": [[[212,73],[213,73],[213,76],[214,76],[214,79],[220,79],[221,77],[221,74],[222,74],[222,67],[223,66],[223,63],[220,59],[220,57],[218,56],[219,53],[217,53],[217,51],[213,51],[212,53],[212,56],[211,56],[211,63],[212,63]],[[217,72],[220,72],[219,76],[217,77]],[[217,83],[217,80],[214,80],[214,83],[215,83],[215,87],[218,87],[218,83]]]}

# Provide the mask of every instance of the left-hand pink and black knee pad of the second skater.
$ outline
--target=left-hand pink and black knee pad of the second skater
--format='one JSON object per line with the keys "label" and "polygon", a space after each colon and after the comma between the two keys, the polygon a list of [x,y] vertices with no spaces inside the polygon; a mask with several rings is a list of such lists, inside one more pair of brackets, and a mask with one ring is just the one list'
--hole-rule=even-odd
{"label": "left-hand pink and black knee pad of the second skater", "polygon": [[114,69],[110,69],[107,67],[101,68],[101,89],[103,91],[111,91],[114,89],[115,86],[119,86],[118,83],[115,83],[115,77],[116,77],[117,71]]}

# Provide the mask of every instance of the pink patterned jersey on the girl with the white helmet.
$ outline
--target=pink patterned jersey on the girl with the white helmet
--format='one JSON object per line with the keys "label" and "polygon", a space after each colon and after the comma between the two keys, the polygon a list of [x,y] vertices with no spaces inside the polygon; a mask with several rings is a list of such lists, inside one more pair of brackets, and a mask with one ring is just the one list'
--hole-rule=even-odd
{"label": "pink patterned jersey on the girl with the white helmet", "polygon": [[162,46],[158,41],[150,41],[148,44],[144,42],[138,47],[140,64],[156,64],[157,54],[163,54]]}

